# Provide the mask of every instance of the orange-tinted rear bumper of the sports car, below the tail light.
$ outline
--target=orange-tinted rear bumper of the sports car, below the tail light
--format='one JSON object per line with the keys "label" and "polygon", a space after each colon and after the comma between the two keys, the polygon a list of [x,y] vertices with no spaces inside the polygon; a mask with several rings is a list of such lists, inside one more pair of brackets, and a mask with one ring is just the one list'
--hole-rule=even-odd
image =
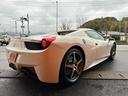
{"label": "orange-tinted rear bumper of the sports car, below the tail light", "polygon": [[[56,54],[57,50],[58,53]],[[16,59],[10,60],[10,54],[16,53]],[[58,83],[63,50],[50,47],[46,50],[19,50],[7,47],[8,62],[15,64],[16,69],[33,67],[40,81],[46,83]],[[56,55],[56,56],[54,56]]]}

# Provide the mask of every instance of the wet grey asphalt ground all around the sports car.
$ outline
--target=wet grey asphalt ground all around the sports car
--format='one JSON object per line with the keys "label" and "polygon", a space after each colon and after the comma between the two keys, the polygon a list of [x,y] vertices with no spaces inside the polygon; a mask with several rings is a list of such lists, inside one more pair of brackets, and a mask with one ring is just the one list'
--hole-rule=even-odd
{"label": "wet grey asphalt ground all around the sports car", "polygon": [[[8,67],[5,56],[5,51],[1,48],[0,74],[5,74],[0,75],[0,96],[128,96],[128,80],[80,78],[72,86],[58,88],[30,79],[23,74],[15,78],[11,73],[16,72]],[[128,50],[118,50],[114,61],[105,61],[88,71],[128,72]],[[88,71],[85,71],[83,76]]]}

